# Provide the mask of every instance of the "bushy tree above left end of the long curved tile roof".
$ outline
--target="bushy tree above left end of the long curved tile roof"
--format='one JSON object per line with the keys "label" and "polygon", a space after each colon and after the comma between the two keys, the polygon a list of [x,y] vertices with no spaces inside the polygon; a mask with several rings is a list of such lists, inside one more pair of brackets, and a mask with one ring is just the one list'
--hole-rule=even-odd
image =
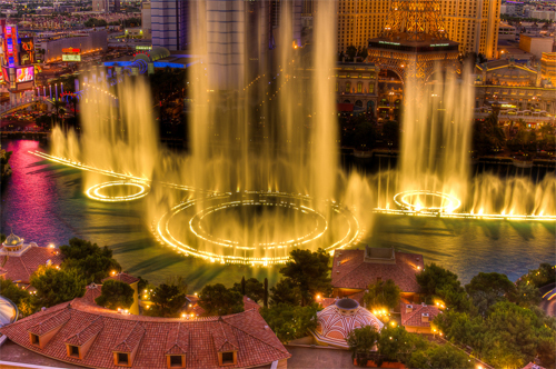
{"label": "bushy tree above left end of the long curved tile roof", "polygon": [[31,275],[31,286],[37,289],[32,305],[49,308],[83,296],[86,281],[77,269],[39,266]]}

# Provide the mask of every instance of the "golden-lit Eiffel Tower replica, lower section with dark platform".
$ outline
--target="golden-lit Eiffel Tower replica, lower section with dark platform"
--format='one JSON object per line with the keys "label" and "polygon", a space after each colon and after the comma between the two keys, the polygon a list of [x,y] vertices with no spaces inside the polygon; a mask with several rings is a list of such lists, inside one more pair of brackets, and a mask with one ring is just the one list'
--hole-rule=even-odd
{"label": "golden-lit Eiffel Tower replica, lower section with dark platform", "polygon": [[426,83],[436,64],[459,71],[458,46],[446,34],[438,0],[393,0],[383,32],[369,40],[367,61],[401,83],[407,78]]}

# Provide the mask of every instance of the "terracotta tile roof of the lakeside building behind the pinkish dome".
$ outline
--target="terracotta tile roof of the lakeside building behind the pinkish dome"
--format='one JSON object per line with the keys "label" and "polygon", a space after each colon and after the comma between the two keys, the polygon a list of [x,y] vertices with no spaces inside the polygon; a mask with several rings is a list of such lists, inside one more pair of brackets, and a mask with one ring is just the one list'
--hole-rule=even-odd
{"label": "terracotta tile roof of the lakeside building behind the pinkish dome", "polygon": [[401,289],[401,292],[419,292],[417,267],[423,269],[423,256],[417,253],[395,252],[396,263],[364,261],[365,250],[339,250],[334,255],[332,287],[366,289],[377,278],[388,279]]}

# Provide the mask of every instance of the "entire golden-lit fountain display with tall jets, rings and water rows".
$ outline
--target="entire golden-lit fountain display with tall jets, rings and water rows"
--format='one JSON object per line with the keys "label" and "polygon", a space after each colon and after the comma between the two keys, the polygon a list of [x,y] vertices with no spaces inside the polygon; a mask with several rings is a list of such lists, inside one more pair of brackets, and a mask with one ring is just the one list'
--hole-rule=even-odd
{"label": "entire golden-lit fountain display with tall jets, rings and water rows", "polygon": [[[117,91],[87,84],[80,142],[56,129],[52,154],[34,153],[83,170],[93,200],[142,199],[160,243],[220,263],[268,266],[288,260],[294,248],[350,247],[373,226],[374,211],[556,219],[554,176],[538,183],[470,176],[470,72],[419,88],[406,80],[399,168],[388,162],[375,177],[348,173],[339,168],[336,143],[334,2],[318,3],[312,62],[297,44],[281,42],[277,68],[259,60],[259,73],[232,74],[222,88],[218,78],[236,71],[234,61],[247,61],[211,59],[222,58],[210,49],[211,6],[195,1],[190,8],[191,54],[207,57],[189,67],[188,154],[158,146],[140,78]],[[291,40],[291,3],[282,2],[281,12],[279,38]],[[241,88],[229,88],[238,80]]]}

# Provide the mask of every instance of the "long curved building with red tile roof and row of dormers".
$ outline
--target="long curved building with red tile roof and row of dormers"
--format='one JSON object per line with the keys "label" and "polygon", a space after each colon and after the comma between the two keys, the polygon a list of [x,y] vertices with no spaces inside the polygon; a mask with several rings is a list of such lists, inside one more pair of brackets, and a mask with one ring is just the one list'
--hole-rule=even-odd
{"label": "long curved building with red tile roof and row of dormers", "polygon": [[121,313],[78,298],[0,333],[27,349],[22,361],[42,356],[89,368],[286,368],[291,357],[255,309],[187,320]]}

